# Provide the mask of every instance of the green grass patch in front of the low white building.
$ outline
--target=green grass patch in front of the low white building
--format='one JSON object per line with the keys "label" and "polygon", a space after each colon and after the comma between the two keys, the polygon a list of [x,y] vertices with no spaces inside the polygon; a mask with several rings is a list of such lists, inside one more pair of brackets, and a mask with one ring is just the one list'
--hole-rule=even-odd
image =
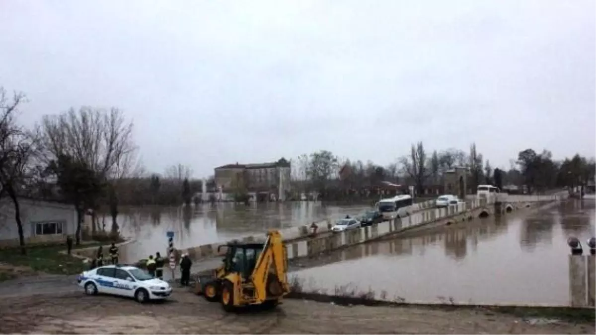
{"label": "green grass patch in front of the low white building", "polygon": [[[91,244],[82,244],[76,248],[92,247]],[[20,248],[10,248],[0,250],[0,259],[4,271],[0,275],[0,280],[8,280],[19,275],[34,274],[35,272],[44,272],[46,274],[72,275],[83,271],[83,262],[81,259],[59,253],[66,249],[63,245],[30,246],[27,247],[27,255],[21,255]],[[75,246],[73,246],[75,249]],[[8,271],[11,268],[29,268],[31,271],[16,271],[11,274]]]}

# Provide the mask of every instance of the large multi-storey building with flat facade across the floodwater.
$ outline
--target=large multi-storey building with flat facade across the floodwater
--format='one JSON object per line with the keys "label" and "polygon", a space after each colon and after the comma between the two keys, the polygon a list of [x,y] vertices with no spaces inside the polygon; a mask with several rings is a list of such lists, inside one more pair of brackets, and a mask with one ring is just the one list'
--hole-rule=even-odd
{"label": "large multi-storey building with flat facade across the floodwater", "polygon": [[224,193],[244,189],[255,193],[290,191],[291,164],[284,158],[273,163],[228,164],[215,168],[215,184]]}

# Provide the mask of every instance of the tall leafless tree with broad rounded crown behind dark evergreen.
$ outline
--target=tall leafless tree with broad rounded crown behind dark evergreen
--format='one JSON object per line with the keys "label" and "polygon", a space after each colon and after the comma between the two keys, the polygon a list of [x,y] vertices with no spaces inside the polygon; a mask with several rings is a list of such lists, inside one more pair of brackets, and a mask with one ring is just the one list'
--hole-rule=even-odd
{"label": "tall leafless tree with broad rounded crown behind dark evergreen", "polygon": [[[46,162],[72,162],[91,169],[102,181],[125,175],[136,152],[132,141],[132,122],[117,108],[71,108],[66,113],[44,116],[42,120]],[[63,159],[69,157],[69,159]],[[57,171],[67,171],[58,167]],[[66,180],[66,179],[64,179]],[[88,194],[77,209],[77,243],[85,207],[97,209],[101,194]],[[80,206],[81,204],[77,204]]]}

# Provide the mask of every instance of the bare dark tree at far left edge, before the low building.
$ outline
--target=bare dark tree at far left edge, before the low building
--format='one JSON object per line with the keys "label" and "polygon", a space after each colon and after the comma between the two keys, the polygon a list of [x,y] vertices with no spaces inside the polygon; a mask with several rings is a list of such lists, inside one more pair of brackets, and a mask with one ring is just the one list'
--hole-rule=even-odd
{"label": "bare dark tree at far left edge, before the low building", "polygon": [[23,101],[23,94],[15,93],[12,98],[8,98],[5,89],[0,88],[0,197],[6,194],[13,202],[19,245],[21,253],[25,255],[18,197],[23,193],[23,189],[29,189],[28,184],[32,184],[30,179],[39,172],[38,166],[35,165],[39,141],[35,133],[25,131],[15,122],[18,106]]}

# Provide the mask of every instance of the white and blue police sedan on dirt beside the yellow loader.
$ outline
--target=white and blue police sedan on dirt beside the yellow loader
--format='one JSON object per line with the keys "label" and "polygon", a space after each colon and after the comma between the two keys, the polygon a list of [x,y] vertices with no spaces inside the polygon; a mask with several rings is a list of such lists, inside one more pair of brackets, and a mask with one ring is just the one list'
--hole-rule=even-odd
{"label": "white and blue police sedan on dirt beside the yellow loader", "polygon": [[106,265],[85,271],[77,277],[85,293],[114,294],[134,297],[138,302],[163,300],[172,294],[172,287],[142,269],[130,265]]}

